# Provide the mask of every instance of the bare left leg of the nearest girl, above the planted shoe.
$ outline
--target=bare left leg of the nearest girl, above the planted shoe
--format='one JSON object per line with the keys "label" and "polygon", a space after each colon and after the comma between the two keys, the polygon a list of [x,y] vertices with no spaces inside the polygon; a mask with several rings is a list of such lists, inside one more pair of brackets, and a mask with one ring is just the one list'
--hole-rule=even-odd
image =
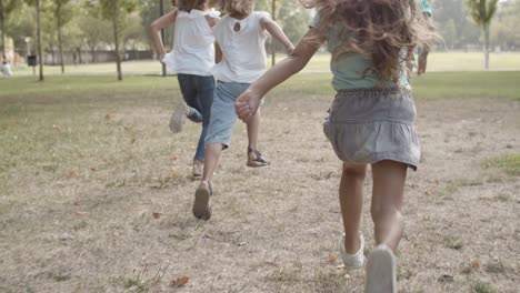
{"label": "bare left leg of the nearest girl, above the planted shoe", "polygon": [[356,253],[361,245],[359,225],[363,209],[363,181],[366,172],[366,164],[343,163],[339,198],[344,228],[344,250],[349,254]]}

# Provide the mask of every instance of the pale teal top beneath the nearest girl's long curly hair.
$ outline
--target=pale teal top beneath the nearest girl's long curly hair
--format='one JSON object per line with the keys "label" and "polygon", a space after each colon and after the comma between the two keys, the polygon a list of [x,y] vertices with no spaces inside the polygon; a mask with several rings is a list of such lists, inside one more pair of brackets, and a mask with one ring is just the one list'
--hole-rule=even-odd
{"label": "pale teal top beneath the nearest girl's long curly hair", "polygon": [[[309,27],[316,28],[320,21],[319,14],[312,19]],[[333,53],[336,49],[341,44],[338,39],[338,31],[331,30],[324,33],[327,38],[327,50]],[[336,61],[336,62],[334,62]],[[359,53],[350,53],[340,57],[339,60],[330,61],[330,70],[332,71],[332,88],[334,90],[348,90],[348,89],[372,89],[381,84],[378,77],[368,70],[373,68],[372,60],[366,55]],[[407,73],[404,70],[399,78],[399,83],[404,88],[410,88],[408,83]]]}

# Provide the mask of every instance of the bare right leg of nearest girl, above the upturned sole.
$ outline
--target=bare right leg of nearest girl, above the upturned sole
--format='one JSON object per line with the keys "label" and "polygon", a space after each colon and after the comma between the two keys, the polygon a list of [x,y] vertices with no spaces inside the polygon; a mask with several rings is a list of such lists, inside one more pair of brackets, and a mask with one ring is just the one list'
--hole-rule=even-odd
{"label": "bare right leg of nearest girl, above the upturned sole", "polygon": [[372,164],[373,190],[371,215],[376,244],[386,244],[396,252],[404,231],[401,215],[407,165],[396,161]]}

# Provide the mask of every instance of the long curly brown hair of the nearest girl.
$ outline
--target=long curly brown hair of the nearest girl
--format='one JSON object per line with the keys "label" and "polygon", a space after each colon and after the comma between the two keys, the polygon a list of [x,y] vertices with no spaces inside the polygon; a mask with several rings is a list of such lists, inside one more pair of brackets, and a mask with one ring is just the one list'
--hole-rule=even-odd
{"label": "long curly brown hair of the nearest girl", "polygon": [[386,82],[397,82],[401,63],[411,60],[413,48],[429,47],[436,39],[433,26],[417,0],[300,1],[307,8],[318,9],[319,32],[338,33],[340,46],[332,52],[332,60],[361,53],[373,62],[368,71]]}

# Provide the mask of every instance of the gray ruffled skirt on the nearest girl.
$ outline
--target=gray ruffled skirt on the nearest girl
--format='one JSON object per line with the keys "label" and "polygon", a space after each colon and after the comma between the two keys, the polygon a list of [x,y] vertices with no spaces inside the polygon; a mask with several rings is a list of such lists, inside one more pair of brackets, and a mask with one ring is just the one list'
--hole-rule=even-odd
{"label": "gray ruffled skirt on the nearest girl", "polygon": [[408,90],[340,90],[323,132],[343,162],[371,164],[391,160],[416,171],[421,150],[414,119],[416,105]]}

